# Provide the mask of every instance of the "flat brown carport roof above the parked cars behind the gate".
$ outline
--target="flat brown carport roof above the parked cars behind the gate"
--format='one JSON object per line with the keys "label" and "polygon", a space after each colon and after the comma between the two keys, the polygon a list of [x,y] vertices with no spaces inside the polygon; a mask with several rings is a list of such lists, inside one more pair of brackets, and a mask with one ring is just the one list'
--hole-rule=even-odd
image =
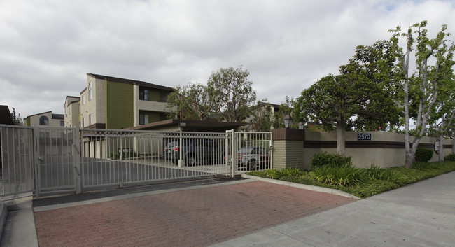
{"label": "flat brown carport roof above the parked cars behind the gate", "polygon": [[[177,119],[169,119],[160,122],[152,122],[147,125],[139,125],[136,127],[130,127],[127,129],[137,129],[137,130],[153,130],[162,127],[179,127],[180,120]],[[241,126],[245,126],[246,123],[244,122],[216,122],[216,121],[201,121],[201,120],[183,120],[186,122],[186,127],[183,127],[183,131],[205,131],[210,132],[213,131],[221,131],[221,130],[229,130],[229,129],[236,129]]]}

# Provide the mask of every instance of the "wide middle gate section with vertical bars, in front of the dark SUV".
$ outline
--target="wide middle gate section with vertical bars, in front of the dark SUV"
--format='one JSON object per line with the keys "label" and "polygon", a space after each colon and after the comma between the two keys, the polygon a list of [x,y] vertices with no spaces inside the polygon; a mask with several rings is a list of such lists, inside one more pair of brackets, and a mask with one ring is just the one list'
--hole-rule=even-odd
{"label": "wide middle gate section with vertical bars, in front of the dark SUV", "polygon": [[225,133],[84,129],[83,188],[227,176]]}

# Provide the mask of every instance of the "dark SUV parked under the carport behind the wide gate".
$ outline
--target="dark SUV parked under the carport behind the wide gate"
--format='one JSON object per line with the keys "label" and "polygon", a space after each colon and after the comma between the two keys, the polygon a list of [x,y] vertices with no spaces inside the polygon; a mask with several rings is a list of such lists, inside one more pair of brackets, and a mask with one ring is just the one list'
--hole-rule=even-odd
{"label": "dark SUV parked under the carport behind the wide gate", "polygon": [[[180,140],[174,139],[167,143],[163,150],[162,157],[172,160],[174,164],[179,163]],[[182,139],[182,156],[187,167],[197,164],[222,164],[225,149],[213,139]]]}

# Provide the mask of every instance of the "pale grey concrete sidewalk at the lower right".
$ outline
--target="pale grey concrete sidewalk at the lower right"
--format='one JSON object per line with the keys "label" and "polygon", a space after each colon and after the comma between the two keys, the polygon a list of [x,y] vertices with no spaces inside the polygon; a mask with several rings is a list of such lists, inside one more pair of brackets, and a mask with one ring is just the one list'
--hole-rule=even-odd
{"label": "pale grey concrete sidewalk at the lower right", "polygon": [[455,172],[214,246],[455,246]]}

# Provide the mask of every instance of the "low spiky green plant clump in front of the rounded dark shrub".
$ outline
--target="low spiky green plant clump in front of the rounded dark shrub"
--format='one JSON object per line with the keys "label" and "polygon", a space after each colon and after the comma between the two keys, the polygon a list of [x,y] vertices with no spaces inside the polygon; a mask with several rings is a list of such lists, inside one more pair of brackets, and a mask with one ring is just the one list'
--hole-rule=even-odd
{"label": "low spiky green plant clump in front of the rounded dark shrub", "polygon": [[349,164],[342,167],[318,167],[312,171],[312,175],[322,183],[342,186],[360,186],[366,179],[362,169]]}

